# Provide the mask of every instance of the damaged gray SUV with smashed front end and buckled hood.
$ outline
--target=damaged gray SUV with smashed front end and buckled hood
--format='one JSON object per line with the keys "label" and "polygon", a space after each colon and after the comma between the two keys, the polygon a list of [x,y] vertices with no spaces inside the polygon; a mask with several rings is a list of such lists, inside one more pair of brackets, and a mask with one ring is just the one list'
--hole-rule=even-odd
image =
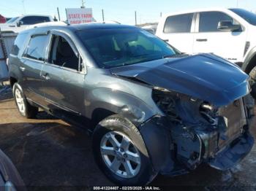
{"label": "damaged gray SUV with smashed front end and buckled hood", "polygon": [[215,55],[185,55],[133,26],[21,32],[9,60],[23,117],[38,108],[86,128],[102,172],[119,185],[226,170],[252,148],[249,77]]}

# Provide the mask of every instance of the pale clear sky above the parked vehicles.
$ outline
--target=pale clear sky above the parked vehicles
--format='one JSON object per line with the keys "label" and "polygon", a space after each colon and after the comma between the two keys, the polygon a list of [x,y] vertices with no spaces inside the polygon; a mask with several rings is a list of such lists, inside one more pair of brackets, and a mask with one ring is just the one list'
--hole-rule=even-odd
{"label": "pale clear sky above the parked vehicles", "polygon": [[[176,12],[184,9],[206,7],[240,7],[256,12],[255,0],[85,0],[85,6],[92,8],[93,16],[102,21],[102,9],[105,20],[116,20],[119,23],[134,25],[135,11],[140,23],[154,23],[160,13]],[[59,7],[61,20],[66,20],[65,8],[78,8],[82,0],[0,0],[0,14],[4,17],[15,17],[26,14],[43,14],[56,17]]]}

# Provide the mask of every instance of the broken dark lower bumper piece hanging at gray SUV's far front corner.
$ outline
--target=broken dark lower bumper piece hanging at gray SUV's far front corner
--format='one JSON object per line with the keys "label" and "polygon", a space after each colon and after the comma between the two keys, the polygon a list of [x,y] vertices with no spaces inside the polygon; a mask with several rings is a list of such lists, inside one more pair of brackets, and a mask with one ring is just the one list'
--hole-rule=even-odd
{"label": "broken dark lower bumper piece hanging at gray SUV's far front corner", "polygon": [[225,171],[239,163],[251,151],[254,139],[249,132],[238,137],[224,149],[217,152],[208,164],[213,168]]}

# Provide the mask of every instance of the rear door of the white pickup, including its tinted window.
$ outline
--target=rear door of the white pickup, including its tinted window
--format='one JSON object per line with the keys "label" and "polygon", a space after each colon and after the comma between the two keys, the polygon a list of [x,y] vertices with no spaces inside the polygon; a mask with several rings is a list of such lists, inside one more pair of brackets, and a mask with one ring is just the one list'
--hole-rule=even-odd
{"label": "rear door of the white pickup, including its tinted window", "polygon": [[169,16],[158,36],[181,52],[192,53],[195,23],[194,13]]}

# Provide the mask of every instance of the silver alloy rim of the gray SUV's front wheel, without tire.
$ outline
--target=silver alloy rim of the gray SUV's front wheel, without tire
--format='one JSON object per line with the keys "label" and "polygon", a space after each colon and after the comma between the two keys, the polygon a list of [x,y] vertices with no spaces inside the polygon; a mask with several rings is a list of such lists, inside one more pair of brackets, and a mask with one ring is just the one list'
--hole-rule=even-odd
{"label": "silver alloy rim of the gray SUV's front wheel, without tire", "polygon": [[100,152],[108,168],[122,178],[132,178],[140,171],[140,153],[123,133],[106,133],[100,143]]}

